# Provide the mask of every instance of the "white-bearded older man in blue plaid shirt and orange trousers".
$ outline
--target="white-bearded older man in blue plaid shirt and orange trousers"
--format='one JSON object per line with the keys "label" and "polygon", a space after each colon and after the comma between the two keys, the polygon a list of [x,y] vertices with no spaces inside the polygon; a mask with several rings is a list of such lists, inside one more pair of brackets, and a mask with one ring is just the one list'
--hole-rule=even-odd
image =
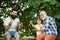
{"label": "white-bearded older man in blue plaid shirt and orange trousers", "polygon": [[52,17],[48,16],[45,11],[40,11],[40,18],[43,20],[43,30],[45,40],[55,40],[57,36],[57,26]]}

